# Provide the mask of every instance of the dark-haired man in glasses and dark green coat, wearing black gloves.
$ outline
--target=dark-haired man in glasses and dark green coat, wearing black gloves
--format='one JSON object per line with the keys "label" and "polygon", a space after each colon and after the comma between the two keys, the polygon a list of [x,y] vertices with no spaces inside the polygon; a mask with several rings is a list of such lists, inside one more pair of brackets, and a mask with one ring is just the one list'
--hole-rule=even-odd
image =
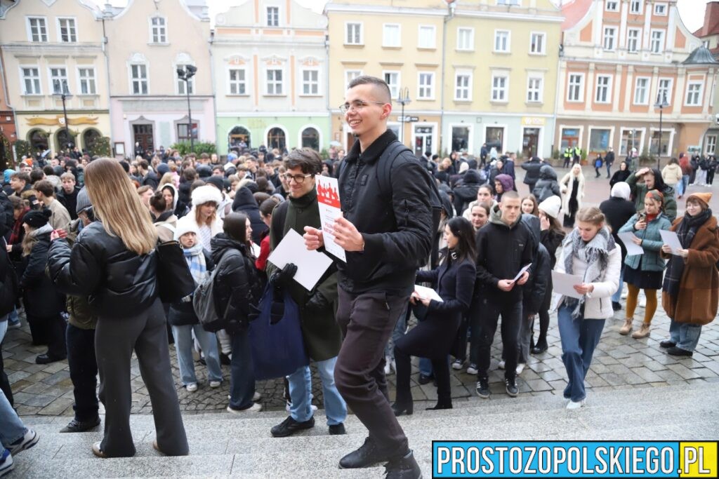
{"label": "dark-haired man in glasses and dark green coat, wearing black gloves", "polygon": [[[273,212],[270,248],[275,249],[290,229],[304,233],[305,226],[321,228],[314,175],[322,171],[319,154],[312,149],[295,149],[285,159],[286,179],[290,186],[288,200]],[[306,175],[311,175],[307,177]],[[285,266],[286,268],[286,266]],[[287,288],[300,307],[302,338],[310,358],[315,362],[322,381],[324,410],[330,434],[345,434],[347,404],[334,384],[334,366],[342,345],[342,332],[334,318],[337,301],[337,269],[331,266],[311,292],[296,281],[290,281],[285,269],[278,271],[267,264],[270,282]],[[301,429],[314,427],[310,391],[312,378],[309,366],[301,366],[288,377],[290,385],[290,416],[270,429],[274,437],[285,437]]]}

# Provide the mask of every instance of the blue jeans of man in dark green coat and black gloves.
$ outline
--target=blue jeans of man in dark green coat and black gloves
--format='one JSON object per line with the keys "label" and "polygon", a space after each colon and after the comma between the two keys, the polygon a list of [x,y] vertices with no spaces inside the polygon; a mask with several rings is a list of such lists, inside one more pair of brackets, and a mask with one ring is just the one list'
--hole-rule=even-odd
{"label": "blue jeans of man in dark green coat and black gloves", "polygon": [[[347,404],[339,395],[334,385],[334,364],[337,357],[324,361],[316,361],[317,371],[322,381],[322,395],[324,396],[324,414],[327,417],[327,425],[334,426],[347,419]],[[312,375],[309,366],[302,366],[297,371],[287,376],[290,382],[290,415],[297,422],[309,421],[312,417]]]}

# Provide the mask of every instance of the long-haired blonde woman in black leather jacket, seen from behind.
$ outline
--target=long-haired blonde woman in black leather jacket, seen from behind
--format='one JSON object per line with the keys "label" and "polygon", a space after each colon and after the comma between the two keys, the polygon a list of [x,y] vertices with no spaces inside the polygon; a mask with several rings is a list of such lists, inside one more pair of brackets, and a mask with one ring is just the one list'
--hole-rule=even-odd
{"label": "long-haired blonde woman in black leather jacket, seen from behind", "polygon": [[87,296],[98,317],[95,349],[106,418],[104,440],[93,444],[93,453],[99,457],[135,453],[129,427],[134,350],[155,416],[153,447],[166,455],[187,455],[170,370],[165,312],[157,296],[157,231],[114,159],[88,164],[85,185],[99,221],[83,229],[71,250],[62,239],[64,232],[53,232],[48,263],[58,289]]}

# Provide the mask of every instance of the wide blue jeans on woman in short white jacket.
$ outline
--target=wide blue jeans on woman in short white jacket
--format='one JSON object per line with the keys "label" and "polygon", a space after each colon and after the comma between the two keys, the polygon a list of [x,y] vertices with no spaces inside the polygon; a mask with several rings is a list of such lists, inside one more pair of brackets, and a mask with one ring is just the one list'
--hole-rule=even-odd
{"label": "wide blue jeans on woman in short white jacket", "polygon": [[592,363],[592,355],[599,343],[605,320],[572,318],[572,309],[562,305],[557,312],[559,338],[562,340],[562,361],[567,368],[567,387],[564,398],[574,402],[587,397],[584,381]]}

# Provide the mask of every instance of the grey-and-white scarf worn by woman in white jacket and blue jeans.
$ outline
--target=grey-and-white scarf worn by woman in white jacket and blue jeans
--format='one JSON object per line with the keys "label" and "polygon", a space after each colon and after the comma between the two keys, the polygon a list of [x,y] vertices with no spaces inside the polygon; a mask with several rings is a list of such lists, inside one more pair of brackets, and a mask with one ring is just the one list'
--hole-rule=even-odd
{"label": "grey-and-white scarf worn by woman in white jacket and blue jeans", "polygon": [[[567,274],[574,274],[574,258],[581,259],[587,263],[582,282],[592,283],[600,279],[609,262],[609,253],[615,247],[614,238],[607,228],[597,231],[597,234],[590,241],[582,240],[579,230],[576,228],[569,233],[564,240],[564,271]],[[580,299],[564,297],[564,304],[572,310],[572,318],[581,317],[584,312],[584,304],[587,300],[586,294]]]}

